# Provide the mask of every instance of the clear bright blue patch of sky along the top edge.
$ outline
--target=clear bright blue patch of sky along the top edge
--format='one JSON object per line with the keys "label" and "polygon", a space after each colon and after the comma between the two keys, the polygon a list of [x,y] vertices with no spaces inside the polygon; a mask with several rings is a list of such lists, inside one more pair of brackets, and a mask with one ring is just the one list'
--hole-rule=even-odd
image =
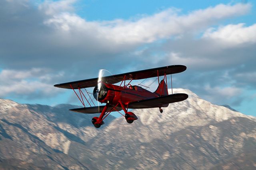
{"label": "clear bright blue patch of sky along the top edge", "polygon": [[[178,8],[181,13],[188,13],[192,10],[204,9],[218,4],[234,4],[245,2],[243,0],[188,0],[170,1],[170,0],[80,0],[76,4],[77,14],[87,20],[113,20],[117,18],[130,19],[137,15],[151,15],[168,8]],[[250,2],[250,1],[249,1]],[[245,18],[245,17],[244,17]]]}

